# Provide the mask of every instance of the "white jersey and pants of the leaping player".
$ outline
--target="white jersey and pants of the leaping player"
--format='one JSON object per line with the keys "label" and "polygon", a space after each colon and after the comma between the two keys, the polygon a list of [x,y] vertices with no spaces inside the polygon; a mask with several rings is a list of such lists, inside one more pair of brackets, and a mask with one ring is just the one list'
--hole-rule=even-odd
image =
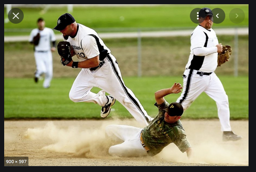
{"label": "white jersey and pants of the leaping player", "polygon": [[[65,40],[64,37],[63,40]],[[100,61],[104,61],[104,64],[96,70],[81,69],[71,87],[69,98],[74,102],[93,102],[105,106],[107,102],[105,92],[107,92],[119,101],[140,124],[147,126],[152,118],[144,110],[135,94],[125,86],[115,56],[110,53],[110,49],[99,35],[93,29],[78,24],[74,38],[69,36],[65,41],[70,42],[79,61],[99,55],[102,49],[109,53],[103,58],[100,54]],[[91,92],[93,87],[99,87],[102,90],[96,94]]]}

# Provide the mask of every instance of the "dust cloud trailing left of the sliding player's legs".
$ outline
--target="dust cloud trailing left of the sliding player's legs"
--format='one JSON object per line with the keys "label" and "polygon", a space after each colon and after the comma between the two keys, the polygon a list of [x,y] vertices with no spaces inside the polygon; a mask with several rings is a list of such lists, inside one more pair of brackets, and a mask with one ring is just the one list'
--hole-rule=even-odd
{"label": "dust cloud trailing left of the sliding player's legs", "polygon": [[[115,119],[115,124],[122,122]],[[114,144],[113,141],[105,138],[105,127],[110,124],[113,124],[113,121],[106,121],[99,127],[86,127],[86,129],[81,126],[63,128],[49,121],[44,127],[28,128],[24,136],[31,140],[51,140],[52,144],[42,147],[45,151],[69,152],[73,153],[74,157],[106,158],[111,157],[108,148]],[[126,125],[129,123],[126,122]]]}

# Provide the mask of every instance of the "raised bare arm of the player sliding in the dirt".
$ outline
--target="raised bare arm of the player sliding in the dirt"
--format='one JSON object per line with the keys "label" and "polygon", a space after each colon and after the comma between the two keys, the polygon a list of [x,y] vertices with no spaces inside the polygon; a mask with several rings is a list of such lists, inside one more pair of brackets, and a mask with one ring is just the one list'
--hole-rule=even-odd
{"label": "raised bare arm of the player sliding in the dirt", "polygon": [[170,88],[165,88],[162,90],[158,90],[155,92],[155,101],[158,105],[162,104],[164,102],[164,97],[168,94],[172,93],[180,93],[182,89],[182,85],[180,83],[174,83],[174,85]]}

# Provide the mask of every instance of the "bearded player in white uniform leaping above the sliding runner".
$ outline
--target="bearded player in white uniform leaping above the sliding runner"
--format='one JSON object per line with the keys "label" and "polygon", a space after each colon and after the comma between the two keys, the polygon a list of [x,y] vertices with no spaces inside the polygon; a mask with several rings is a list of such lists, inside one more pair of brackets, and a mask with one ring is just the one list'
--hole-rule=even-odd
{"label": "bearded player in white uniform leaping above the sliding runner", "polygon": [[[144,110],[135,94],[125,86],[117,60],[99,35],[91,28],[76,23],[70,13],[62,14],[54,29],[60,31],[64,41],[70,42],[79,61],[71,61],[66,66],[81,68],[69,92],[74,102],[93,102],[102,106],[101,117],[106,118],[111,106],[118,100],[143,126],[151,118]],[[93,87],[102,90],[91,92]],[[106,96],[105,93],[110,95]]]}

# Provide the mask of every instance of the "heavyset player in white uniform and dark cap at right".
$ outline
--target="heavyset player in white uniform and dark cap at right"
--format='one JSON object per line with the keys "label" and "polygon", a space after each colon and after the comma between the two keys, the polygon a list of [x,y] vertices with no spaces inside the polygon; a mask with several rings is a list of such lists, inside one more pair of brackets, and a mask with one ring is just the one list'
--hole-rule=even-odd
{"label": "heavyset player in white uniform and dark cap at right", "polygon": [[189,60],[182,77],[183,90],[176,102],[181,103],[186,110],[202,92],[205,92],[216,101],[223,141],[235,141],[242,137],[231,130],[228,95],[214,72],[217,68],[218,53],[222,52],[222,44],[219,44],[216,33],[211,28],[212,20],[212,11],[202,8],[199,12],[200,24],[191,34]]}

